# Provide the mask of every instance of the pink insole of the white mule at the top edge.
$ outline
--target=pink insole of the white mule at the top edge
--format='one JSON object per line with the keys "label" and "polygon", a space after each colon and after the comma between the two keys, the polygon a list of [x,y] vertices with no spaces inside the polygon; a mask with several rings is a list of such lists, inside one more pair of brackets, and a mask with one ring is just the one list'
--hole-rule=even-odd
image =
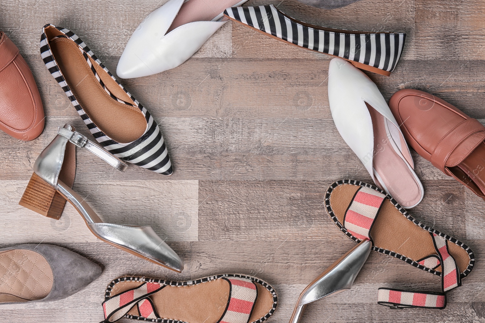
{"label": "pink insole of the white mule at the top edge", "polygon": [[210,21],[241,0],[189,0],[182,4],[167,33],[194,21]]}

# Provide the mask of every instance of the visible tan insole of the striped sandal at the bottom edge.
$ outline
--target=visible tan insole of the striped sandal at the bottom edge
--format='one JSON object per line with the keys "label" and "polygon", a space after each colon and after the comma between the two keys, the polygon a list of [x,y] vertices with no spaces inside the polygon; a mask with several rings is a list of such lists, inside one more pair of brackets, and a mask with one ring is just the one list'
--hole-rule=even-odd
{"label": "visible tan insole of the striped sandal at the bottom edge", "polygon": [[[124,281],[114,285],[111,296],[140,286],[142,282]],[[266,315],[273,306],[273,295],[266,288],[256,284],[258,298],[249,322]],[[166,286],[151,295],[155,309],[163,319],[189,323],[216,323],[223,315],[229,297],[229,283],[216,279],[193,286]],[[139,315],[136,306],[129,311]]]}

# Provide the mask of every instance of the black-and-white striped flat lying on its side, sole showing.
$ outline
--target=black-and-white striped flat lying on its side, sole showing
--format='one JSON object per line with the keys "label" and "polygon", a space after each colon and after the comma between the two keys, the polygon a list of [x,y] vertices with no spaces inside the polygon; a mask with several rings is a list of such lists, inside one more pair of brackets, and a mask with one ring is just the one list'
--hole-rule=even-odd
{"label": "black-and-white striped flat lying on its side, sole showing", "polygon": [[385,76],[394,71],[406,38],[402,32],[348,31],[310,25],[272,4],[231,7],[224,15],[272,38],[343,58],[358,68]]}

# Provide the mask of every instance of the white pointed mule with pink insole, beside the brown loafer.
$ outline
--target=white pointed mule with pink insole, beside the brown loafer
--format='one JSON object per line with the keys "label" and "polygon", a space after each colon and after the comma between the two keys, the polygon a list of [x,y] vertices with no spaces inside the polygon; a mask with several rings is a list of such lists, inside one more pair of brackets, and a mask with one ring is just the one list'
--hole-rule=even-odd
{"label": "white pointed mule with pink insole, beside the brown loafer", "polygon": [[351,63],[334,58],[328,68],[328,101],[340,135],[374,183],[404,208],[418,205],[423,186],[399,124],[375,83]]}

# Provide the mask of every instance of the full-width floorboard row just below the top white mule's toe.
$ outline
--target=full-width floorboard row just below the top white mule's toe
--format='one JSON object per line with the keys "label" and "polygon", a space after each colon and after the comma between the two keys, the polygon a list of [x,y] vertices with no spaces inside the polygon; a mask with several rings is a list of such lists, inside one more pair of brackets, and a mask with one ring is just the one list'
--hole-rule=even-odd
{"label": "full-width floorboard row just below the top white mule's toe", "polygon": [[[284,45],[284,44],[283,44]],[[48,116],[76,111],[49,74],[40,55],[25,56],[36,76]],[[103,60],[114,73],[119,56]],[[192,59],[177,69],[150,77],[121,80],[162,122],[170,118],[331,119],[328,105],[328,63],[307,59]],[[485,118],[482,61],[402,60],[390,77],[367,72],[388,100],[393,93],[414,88],[435,94],[469,114]],[[190,78],[185,77],[190,75]],[[429,77],[433,75],[433,77]],[[79,117],[78,117],[79,118]]]}

